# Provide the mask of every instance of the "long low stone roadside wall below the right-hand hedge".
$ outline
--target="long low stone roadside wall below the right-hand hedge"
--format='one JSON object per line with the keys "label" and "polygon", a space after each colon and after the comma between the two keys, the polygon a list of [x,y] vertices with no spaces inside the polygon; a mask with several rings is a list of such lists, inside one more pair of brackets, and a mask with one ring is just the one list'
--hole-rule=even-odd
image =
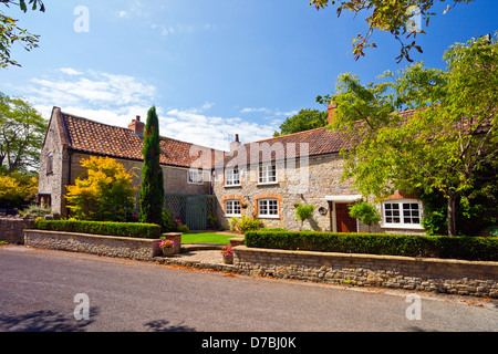
{"label": "long low stone roadside wall below the right-hand hedge", "polygon": [[237,246],[250,275],[498,298],[498,262],[269,250]]}

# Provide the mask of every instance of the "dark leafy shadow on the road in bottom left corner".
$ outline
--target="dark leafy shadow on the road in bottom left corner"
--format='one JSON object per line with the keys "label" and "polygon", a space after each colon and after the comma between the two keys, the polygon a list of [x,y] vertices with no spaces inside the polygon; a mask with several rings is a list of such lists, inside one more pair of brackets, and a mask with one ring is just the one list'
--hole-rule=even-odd
{"label": "dark leafy shadow on the road in bottom left corner", "polygon": [[[98,315],[98,308],[91,308],[91,319]],[[21,315],[0,314],[0,332],[84,332],[94,320],[76,321],[73,316],[39,310]]]}

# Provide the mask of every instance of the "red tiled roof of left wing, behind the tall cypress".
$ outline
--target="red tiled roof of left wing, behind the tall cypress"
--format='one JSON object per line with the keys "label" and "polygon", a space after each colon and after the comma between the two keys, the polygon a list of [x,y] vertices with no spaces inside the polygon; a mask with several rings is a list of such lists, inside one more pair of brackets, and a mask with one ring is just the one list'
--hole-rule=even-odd
{"label": "red tiled roof of left wing, behind the tall cypress", "polygon": [[[132,129],[94,122],[63,112],[58,116],[58,124],[59,131],[62,132],[62,144],[68,144],[73,150],[143,160],[144,139]],[[195,144],[162,136],[160,164],[190,167],[194,162],[199,159],[199,156],[203,156],[201,154],[190,156],[190,149],[195,146]],[[210,164],[212,165],[217,150],[208,147],[200,147],[200,150],[211,153]],[[224,152],[218,152],[218,154],[224,154]]]}

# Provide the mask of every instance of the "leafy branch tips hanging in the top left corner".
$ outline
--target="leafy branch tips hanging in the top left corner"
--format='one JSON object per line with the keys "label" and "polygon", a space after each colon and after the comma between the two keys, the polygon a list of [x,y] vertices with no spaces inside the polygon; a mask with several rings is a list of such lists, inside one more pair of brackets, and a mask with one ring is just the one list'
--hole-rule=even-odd
{"label": "leafy branch tips hanging in the top left corner", "polygon": [[[28,11],[28,6],[30,6],[33,11],[37,9],[40,9],[41,12],[45,11],[45,6],[41,0],[29,0],[28,6],[27,0],[19,0],[19,2],[0,0],[0,3],[3,3],[8,8],[9,4],[19,6],[23,12]],[[21,66],[10,58],[10,49],[14,42],[19,42],[27,51],[31,51],[33,48],[38,46],[40,37],[19,28],[17,22],[18,20],[14,20],[0,11],[0,67],[7,67],[8,65]]]}

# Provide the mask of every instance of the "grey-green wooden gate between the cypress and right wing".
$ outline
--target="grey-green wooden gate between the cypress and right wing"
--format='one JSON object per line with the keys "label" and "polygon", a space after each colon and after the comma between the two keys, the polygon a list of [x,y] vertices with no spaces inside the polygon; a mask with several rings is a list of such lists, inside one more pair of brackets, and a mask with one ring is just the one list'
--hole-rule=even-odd
{"label": "grey-green wooden gate between the cypress and right wing", "polygon": [[164,208],[190,230],[206,230],[207,217],[216,216],[215,196],[166,194]]}

